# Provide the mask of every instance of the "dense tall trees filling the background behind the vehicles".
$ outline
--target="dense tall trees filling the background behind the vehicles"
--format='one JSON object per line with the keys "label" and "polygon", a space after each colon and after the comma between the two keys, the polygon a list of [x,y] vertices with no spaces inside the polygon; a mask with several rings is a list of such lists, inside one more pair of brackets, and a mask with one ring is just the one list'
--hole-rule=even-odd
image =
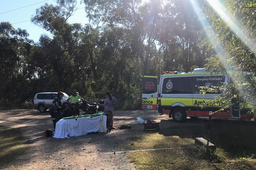
{"label": "dense tall trees filling the background behind the vehicles", "polygon": [[[38,8],[31,21],[50,36],[37,42],[26,30],[0,23],[1,101],[21,106],[35,93],[72,89],[95,101],[110,90],[125,108],[140,106],[143,75],[206,66],[255,77],[256,1],[225,0],[221,12],[201,0],[84,0],[89,22],[69,24],[78,3],[57,0]],[[222,99],[236,95],[250,103],[253,97],[244,94],[254,94],[255,80],[237,74],[236,90],[223,85],[230,93]]]}

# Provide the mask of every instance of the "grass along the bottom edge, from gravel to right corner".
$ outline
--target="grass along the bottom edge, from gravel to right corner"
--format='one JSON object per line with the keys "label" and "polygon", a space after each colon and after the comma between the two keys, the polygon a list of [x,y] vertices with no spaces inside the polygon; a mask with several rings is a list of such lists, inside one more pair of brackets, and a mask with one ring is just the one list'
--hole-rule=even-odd
{"label": "grass along the bottom edge, from gravel to right corner", "polygon": [[127,153],[126,157],[138,170],[255,170],[255,160],[225,160],[214,163],[197,156],[196,149],[171,149]]}

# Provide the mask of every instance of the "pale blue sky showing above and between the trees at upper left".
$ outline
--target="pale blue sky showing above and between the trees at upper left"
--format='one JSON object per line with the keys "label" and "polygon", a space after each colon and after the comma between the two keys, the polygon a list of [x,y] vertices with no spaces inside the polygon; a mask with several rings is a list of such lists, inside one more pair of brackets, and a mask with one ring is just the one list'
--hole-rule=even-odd
{"label": "pale blue sky showing above and between the trees at upper left", "polygon": [[[45,1],[45,2],[42,2]],[[42,3],[39,3],[42,2]],[[39,4],[36,4],[39,3]],[[45,3],[56,5],[55,0],[0,0],[0,22],[8,21],[12,24],[12,26],[17,29],[25,29],[29,33],[29,39],[34,40],[35,42],[38,42],[41,34],[48,34],[50,33],[43,28],[34,25],[30,20],[32,15],[36,14],[36,9],[44,5]],[[35,5],[32,5],[35,4]],[[25,7],[31,5],[29,7]],[[84,7],[84,4],[80,4],[80,0],[78,0],[78,8]],[[25,8],[21,8],[25,7]],[[21,8],[21,9],[17,9]],[[7,12],[13,9],[17,9],[11,12]],[[22,22],[26,21],[26,22]],[[21,22],[21,23],[17,23]],[[86,12],[84,9],[78,9],[75,11],[75,14],[71,16],[68,19],[69,23],[81,23],[82,25],[85,25],[88,23],[88,20],[86,18]],[[17,24],[14,24],[17,23]]]}

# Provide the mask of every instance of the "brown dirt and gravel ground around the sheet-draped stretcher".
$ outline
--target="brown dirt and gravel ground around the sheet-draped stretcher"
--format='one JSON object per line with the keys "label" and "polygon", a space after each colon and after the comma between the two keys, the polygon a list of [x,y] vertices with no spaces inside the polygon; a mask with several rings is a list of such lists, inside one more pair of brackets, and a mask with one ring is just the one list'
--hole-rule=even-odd
{"label": "brown dirt and gravel ground around the sheet-draped stretcher", "polygon": [[[104,153],[125,151],[126,147],[122,146],[129,144],[134,137],[148,133],[143,131],[143,125],[136,124],[136,117],[158,121],[160,122],[160,127],[165,130],[180,130],[179,134],[176,134],[178,132],[175,130],[168,131],[168,134],[164,134],[168,137],[169,135],[186,135],[188,133],[186,128],[195,128],[197,131],[203,128],[207,129],[208,124],[207,119],[204,118],[188,119],[185,123],[176,123],[166,115],[159,116],[157,111],[114,111],[114,127],[116,127],[116,130],[110,133],[55,139],[44,136],[44,130],[53,127],[49,112],[39,113],[37,110],[27,109],[1,111],[0,130],[1,128],[10,128],[10,133],[14,130],[19,132],[21,134],[20,140],[25,141],[25,145],[22,145],[25,149],[0,155],[0,167],[4,170],[135,169],[134,164],[130,163],[125,154]],[[219,119],[215,122],[222,124],[225,121]],[[229,120],[229,122],[233,124],[232,120]],[[247,122],[242,122],[239,126],[247,127]],[[118,129],[117,127],[122,124],[130,125],[132,129]],[[160,132],[159,134],[161,134]],[[194,139],[193,134],[187,134],[187,136],[191,136]],[[13,146],[14,144],[10,145]],[[11,148],[8,145],[6,147]]]}

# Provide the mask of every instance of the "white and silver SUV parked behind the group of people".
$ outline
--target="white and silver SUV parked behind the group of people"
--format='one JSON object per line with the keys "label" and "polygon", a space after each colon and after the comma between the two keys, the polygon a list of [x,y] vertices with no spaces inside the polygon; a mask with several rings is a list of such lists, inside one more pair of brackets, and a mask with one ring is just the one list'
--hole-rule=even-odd
{"label": "white and silver SUV parked behind the group of people", "polygon": [[[41,113],[46,112],[48,108],[53,107],[52,102],[57,97],[57,93],[58,92],[37,93],[34,97],[34,107]],[[67,98],[69,97],[66,93],[63,94],[64,96],[61,99],[61,103],[67,101]]]}

